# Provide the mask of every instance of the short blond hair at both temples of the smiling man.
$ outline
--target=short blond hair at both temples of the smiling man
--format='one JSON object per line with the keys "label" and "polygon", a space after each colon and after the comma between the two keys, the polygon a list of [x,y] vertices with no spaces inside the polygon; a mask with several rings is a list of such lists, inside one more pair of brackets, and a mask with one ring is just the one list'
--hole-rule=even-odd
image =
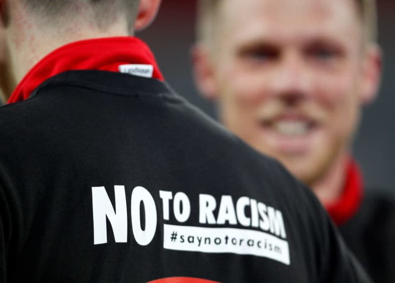
{"label": "short blond hair at both temples of the smiling man", "polygon": [[[366,43],[377,42],[377,7],[376,0],[354,0],[356,2],[364,31]],[[209,43],[214,38],[215,22],[221,0],[198,0],[197,8],[197,40]]]}

